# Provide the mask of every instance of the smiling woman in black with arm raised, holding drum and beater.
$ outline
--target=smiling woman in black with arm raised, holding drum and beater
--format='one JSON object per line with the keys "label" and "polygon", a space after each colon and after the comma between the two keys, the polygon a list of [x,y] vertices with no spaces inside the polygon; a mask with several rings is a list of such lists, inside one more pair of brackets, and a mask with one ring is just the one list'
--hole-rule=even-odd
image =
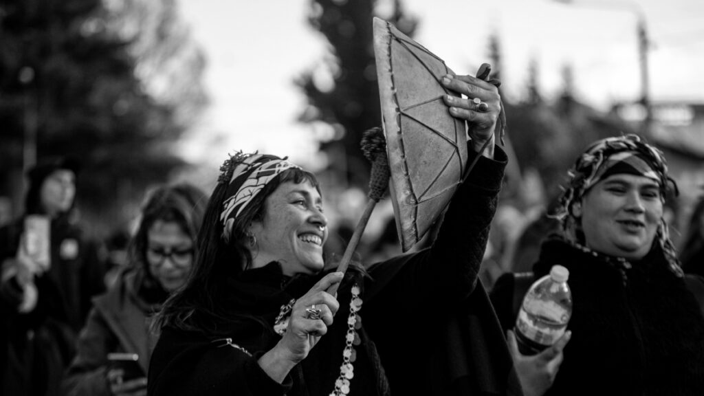
{"label": "smiling woman in black with arm raised, holding drum and beater", "polygon": [[[474,171],[432,247],[367,271],[352,265],[343,276],[326,265],[328,222],[313,174],[272,155],[225,161],[202,254],[161,312],[150,395],[520,392],[477,281],[506,159],[493,142],[501,104],[494,85],[470,76],[448,86],[486,101],[450,104],[471,121]],[[480,155],[485,143],[491,151]]]}

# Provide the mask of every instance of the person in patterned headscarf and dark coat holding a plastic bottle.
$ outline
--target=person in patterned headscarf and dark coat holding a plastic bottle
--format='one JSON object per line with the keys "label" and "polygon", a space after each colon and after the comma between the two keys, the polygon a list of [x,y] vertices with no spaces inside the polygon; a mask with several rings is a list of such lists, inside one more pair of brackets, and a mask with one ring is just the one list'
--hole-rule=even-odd
{"label": "person in patterned headscarf and dark coat holding a plastic bottle", "polygon": [[[569,269],[572,336],[562,357],[543,365],[541,382],[528,374],[540,355],[522,356],[509,332],[526,393],[704,395],[704,316],[663,218],[677,186],[662,153],[635,135],[610,137],[591,144],[569,175],[555,214],[564,232],[543,243],[533,270],[539,278],[555,264]],[[499,290],[497,282],[497,311]]]}

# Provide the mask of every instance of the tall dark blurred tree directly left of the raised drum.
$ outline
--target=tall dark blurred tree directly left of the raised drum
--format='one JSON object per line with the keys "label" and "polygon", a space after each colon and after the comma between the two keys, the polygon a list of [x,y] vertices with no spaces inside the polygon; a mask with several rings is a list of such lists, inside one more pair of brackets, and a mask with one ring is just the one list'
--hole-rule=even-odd
{"label": "tall dark blurred tree directly left of the raised drum", "polygon": [[[416,20],[406,16],[400,0],[383,5],[389,4],[388,15],[379,16],[412,37]],[[382,119],[372,30],[376,15],[376,0],[312,0],[308,21],[327,38],[331,57],[323,68],[307,70],[296,79],[308,97],[299,120],[322,122],[334,130],[332,138],[321,143],[331,159],[328,171],[358,187],[366,184],[370,171],[360,149],[362,134],[381,125]]]}

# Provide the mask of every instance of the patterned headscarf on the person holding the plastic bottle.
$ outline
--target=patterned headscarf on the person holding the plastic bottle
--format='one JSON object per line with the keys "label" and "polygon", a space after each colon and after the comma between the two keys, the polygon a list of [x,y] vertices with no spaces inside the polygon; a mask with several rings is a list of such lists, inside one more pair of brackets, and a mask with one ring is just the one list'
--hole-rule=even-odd
{"label": "patterned headscarf on the person holding the plastic bottle", "polygon": [[[670,185],[677,193],[677,184],[667,174],[667,162],[662,151],[641,142],[637,135],[598,140],[586,149],[582,156],[579,156],[572,169],[567,173],[570,176],[570,181],[565,191],[562,192],[560,204],[554,214],[555,218],[562,222],[562,228],[568,231],[568,237],[574,238],[574,235],[570,235],[569,231],[576,222],[571,215],[572,204],[581,202],[584,194],[596,183],[617,173],[641,175],[655,180],[660,186],[660,197],[663,202]],[[674,273],[680,274],[677,253],[670,240],[670,232],[664,218],[660,219],[658,242],[670,263],[670,269]]]}

